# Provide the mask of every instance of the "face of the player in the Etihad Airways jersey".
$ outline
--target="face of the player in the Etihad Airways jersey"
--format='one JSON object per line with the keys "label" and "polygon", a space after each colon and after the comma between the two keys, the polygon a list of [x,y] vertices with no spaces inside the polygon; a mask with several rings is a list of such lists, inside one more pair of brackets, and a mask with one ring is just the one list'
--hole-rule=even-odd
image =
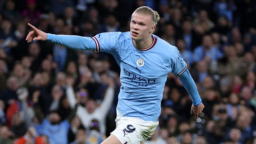
{"label": "face of the player in the Etihad Airways jersey", "polygon": [[155,30],[155,22],[151,15],[133,13],[130,23],[131,38],[133,40],[143,40],[151,37]]}

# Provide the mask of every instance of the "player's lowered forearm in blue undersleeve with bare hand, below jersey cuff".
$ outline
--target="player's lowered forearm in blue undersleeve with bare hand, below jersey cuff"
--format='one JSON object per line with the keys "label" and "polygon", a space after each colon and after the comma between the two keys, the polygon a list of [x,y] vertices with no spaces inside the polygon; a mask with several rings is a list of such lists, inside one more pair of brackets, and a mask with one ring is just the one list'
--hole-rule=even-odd
{"label": "player's lowered forearm in blue undersleeve with bare hand, below jersey cuff", "polygon": [[188,69],[186,69],[184,71],[184,73],[179,76],[179,79],[182,82],[185,89],[188,91],[188,93],[193,101],[190,113],[191,114],[194,113],[195,119],[197,119],[198,115],[203,111],[204,105],[203,105],[202,100],[197,91],[196,84],[195,84],[194,80],[192,79]]}

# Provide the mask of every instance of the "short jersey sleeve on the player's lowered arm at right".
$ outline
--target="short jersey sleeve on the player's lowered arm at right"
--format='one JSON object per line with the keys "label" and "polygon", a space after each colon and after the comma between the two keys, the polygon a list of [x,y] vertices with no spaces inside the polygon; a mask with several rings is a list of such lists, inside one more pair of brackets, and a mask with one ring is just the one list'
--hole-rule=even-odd
{"label": "short jersey sleeve on the player's lowered arm at right", "polygon": [[187,64],[183,60],[183,58],[181,57],[180,52],[178,51],[177,48],[174,51],[171,59],[172,59],[172,62],[173,62],[173,64],[172,64],[172,73],[175,76],[180,76],[187,69]]}

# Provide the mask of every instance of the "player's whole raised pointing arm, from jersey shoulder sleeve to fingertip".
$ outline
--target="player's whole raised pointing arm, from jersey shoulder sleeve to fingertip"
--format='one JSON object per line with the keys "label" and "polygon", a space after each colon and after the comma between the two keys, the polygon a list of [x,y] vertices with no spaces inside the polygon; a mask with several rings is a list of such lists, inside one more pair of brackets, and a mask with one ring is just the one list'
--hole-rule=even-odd
{"label": "player's whole raised pointing arm, from jersey shoulder sleeve to fingertip", "polygon": [[119,49],[116,49],[116,43],[117,40],[120,40],[121,32],[100,33],[90,38],[75,35],[47,34],[31,24],[28,25],[33,29],[26,37],[28,43],[36,40],[47,40],[75,50],[94,50],[96,53],[102,51],[112,55],[116,55],[119,51]]}

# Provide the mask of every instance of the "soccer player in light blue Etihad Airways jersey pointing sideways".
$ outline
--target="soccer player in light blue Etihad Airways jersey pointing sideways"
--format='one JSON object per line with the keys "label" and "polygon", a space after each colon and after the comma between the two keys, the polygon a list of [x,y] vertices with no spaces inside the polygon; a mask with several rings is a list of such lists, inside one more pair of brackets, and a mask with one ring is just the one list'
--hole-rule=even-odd
{"label": "soccer player in light blue Etihad Airways jersey pointing sideways", "polygon": [[178,76],[192,98],[191,114],[198,118],[204,108],[187,64],[178,49],[153,35],[160,17],[143,6],[131,17],[129,32],[100,33],[81,37],[44,33],[31,24],[26,40],[47,40],[76,50],[110,53],[121,68],[116,129],[102,144],[140,144],[158,125],[167,74]]}

